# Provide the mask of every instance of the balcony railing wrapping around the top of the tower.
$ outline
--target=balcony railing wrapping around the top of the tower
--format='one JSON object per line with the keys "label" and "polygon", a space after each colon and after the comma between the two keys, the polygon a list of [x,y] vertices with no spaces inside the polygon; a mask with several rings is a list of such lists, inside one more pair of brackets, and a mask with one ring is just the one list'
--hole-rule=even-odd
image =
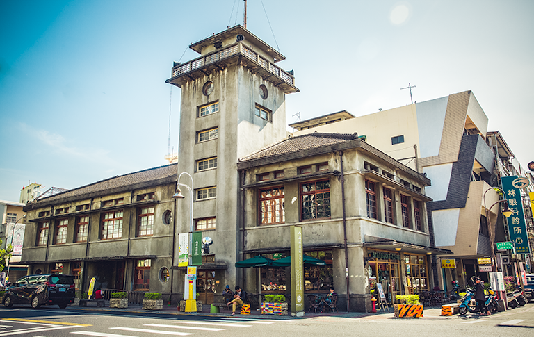
{"label": "balcony railing wrapping around the top of the tower", "polygon": [[261,67],[268,70],[270,73],[275,74],[276,76],[280,77],[282,80],[284,80],[284,82],[289,83],[291,85],[295,84],[295,79],[293,78],[293,76],[291,76],[291,74],[289,74],[288,72],[285,72],[283,69],[281,69],[280,67],[277,67],[273,63],[270,63],[268,60],[261,57],[256,52],[245,47],[241,42],[232,44],[226,47],[225,49],[221,49],[220,51],[213,51],[213,53],[207,54],[206,56],[195,58],[194,60],[191,60],[188,63],[173,67],[172,77],[185,75],[188,72],[193,72],[195,69],[202,68],[205,65],[210,65],[211,63],[216,63],[219,60],[223,60],[225,58],[234,56],[236,54],[242,54],[243,56],[246,56],[250,60],[253,60],[254,62],[258,63]]}

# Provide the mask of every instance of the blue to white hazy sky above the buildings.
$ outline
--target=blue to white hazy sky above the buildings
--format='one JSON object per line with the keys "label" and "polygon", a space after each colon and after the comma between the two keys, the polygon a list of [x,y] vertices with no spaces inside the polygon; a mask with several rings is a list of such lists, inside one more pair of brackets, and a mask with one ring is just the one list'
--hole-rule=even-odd
{"label": "blue to white hazy sky above the buildings", "polygon": [[[248,0],[247,28],[300,92],[286,122],[473,90],[521,166],[534,161],[534,1]],[[188,45],[243,24],[242,0],[0,0],[0,199],[76,188],[177,152]]]}

